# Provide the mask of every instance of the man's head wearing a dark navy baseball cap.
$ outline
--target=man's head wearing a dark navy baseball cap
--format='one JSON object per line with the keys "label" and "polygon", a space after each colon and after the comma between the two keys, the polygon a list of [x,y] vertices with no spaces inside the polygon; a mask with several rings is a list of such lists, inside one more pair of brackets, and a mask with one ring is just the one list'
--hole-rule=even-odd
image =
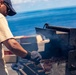
{"label": "man's head wearing a dark navy baseball cap", "polygon": [[4,16],[13,16],[16,14],[10,0],[0,0],[0,13],[2,13]]}

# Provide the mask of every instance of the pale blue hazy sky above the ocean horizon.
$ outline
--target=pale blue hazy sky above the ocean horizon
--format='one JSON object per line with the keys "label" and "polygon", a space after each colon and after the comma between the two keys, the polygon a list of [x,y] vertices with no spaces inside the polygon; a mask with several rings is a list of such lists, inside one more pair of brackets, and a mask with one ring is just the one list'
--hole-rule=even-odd
{"label": "pale blue hazy sky above the ocean horizon", "polygon": [[76,6],[76,0],[11,0],[17,12]]}

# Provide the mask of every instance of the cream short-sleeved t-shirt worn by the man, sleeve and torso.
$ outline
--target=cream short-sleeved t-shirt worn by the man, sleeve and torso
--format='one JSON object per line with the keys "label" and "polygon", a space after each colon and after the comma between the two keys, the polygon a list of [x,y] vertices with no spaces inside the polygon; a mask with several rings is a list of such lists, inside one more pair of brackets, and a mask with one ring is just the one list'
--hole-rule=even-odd
{"label": "cream short-sleeved t-shirt worn by the man, sleeve and torso", "polygon": [[0,13],[0,75],[7,75],[1,42],[9,38],[13,38],[13,35],[9,29],[6,18]]}

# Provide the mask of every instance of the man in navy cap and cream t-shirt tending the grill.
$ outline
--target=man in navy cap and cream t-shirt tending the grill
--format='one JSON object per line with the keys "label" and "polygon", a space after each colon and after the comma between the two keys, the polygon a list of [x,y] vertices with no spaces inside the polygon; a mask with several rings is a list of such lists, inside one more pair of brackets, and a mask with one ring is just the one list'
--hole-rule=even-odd
{"label": "man in navy cap and cream t-shirt tending the grill", "polygon": [[39,62],[42,58],[41,55],[36,52],[28,52],[24,50],[22,46],[14,39],[5,16],[13,16],[16,12],[12,7],[10,0],[0,0],[0,75],[8,75],[5,70],[4,57],[2,54],[2,44],[4,44],[14,54],[34,62]]}

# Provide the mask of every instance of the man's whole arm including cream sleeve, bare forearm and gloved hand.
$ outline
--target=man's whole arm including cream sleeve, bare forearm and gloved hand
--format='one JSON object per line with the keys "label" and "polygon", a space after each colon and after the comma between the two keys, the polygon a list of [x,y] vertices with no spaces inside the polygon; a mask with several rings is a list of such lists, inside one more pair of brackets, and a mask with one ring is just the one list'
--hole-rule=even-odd
{"label": "man's whole arm including cream sleeve, bare forearm and gloved hand", "polygon": [[13,38],[13,35],[8,27],[6,18],[0,14],[0,43],[3,43],[9,50],[17,56],[24,59],[38,61],[41,56],[38,52],[26,51],[22,46]]}

